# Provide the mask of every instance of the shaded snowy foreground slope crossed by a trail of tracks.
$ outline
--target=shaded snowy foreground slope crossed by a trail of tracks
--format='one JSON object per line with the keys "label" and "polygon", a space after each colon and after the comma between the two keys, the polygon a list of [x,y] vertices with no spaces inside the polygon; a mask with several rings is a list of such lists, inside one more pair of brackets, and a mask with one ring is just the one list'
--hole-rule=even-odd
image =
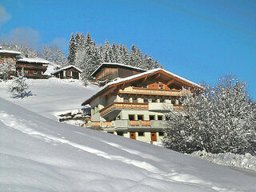
{"label": "shaded snowy foreground slope crossed by a trail of tracks", "polygon": [[256,177],[0,98],[1,191],[255,191]]}

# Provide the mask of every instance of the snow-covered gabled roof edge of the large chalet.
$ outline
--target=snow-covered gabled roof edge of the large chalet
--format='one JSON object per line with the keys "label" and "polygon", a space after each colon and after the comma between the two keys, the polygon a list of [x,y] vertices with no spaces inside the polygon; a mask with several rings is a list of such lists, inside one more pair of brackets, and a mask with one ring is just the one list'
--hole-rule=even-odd
{"label": "snow-covered gabled roof edge of the large chalet", "polygon": [[121,78],[121,79],[118,79],[118,80],[116,80],[116,81],[109,82],[109,83],[107,83],[105,86],[102,86],[102,88],[101,88],[100,90],[98,90],[97,93],[95,93],[95,94],[92,95],[90,98],[88,98],[85,102],[83,102],[82,105],[88,104],[88,102],[89,102],[92,98],[94,98],[95,96],[97,96],[98,94],[100,94],[103,90],[106,90],[109,86],[112,86],[112,85],[114,85],[114,84],[119,84],[120,82],[130,81],[130,80],[132,80],[132,79],[134,79],[134,78],[141,78],[141,77],[144,76],[144,75],[147,75],[147,74],[154,74],[154,73],[156,73],[156,72],[158,72],[158,71],[161,71],[161,70],[162,70],[163,72],[165,72],[166,74],[170,74],[170,75],[173,76],[174,78],[178,78],[178,79],[180,79],[180,80],[182,80],[182,81],[184,81],[184,82],[189,83],[191,86],[196,86],[196,87],[198,87],[198,88],[203,89],[202,86],[198,85],[198,84],[195,83],[195,82],[191,82],[190,80],[188,80],[188,79],[186,79],[186,78],[182,78],[181,76],[178,76],[178,74],[174,74],[174,73],[171,73],[171,72],[168,71],[168,70],[163,70],[163,69],[161,69],[161,68],[158,68],[158,69],[154,69],[154,70],[147,70],[146,72],[143,72],[143,73],[141,73],[141,74],[134,74],[134,75],[132,75],[132,76],[130,76],[130,77],[127,77],[127,78]]}

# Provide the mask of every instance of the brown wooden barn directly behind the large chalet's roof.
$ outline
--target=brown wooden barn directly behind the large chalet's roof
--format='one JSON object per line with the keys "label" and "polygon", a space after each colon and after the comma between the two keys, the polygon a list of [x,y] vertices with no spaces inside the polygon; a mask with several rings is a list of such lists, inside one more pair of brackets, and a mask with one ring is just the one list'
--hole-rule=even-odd
{"label": "brown wooden barn directly behind the large chalet's roof", "polygon": [[135,66],[127,66],[120,63],[104,62],[91,74],[98,81],[113,80],[115,78],[126,78],[134,74],[145,72],[141,68]]}

